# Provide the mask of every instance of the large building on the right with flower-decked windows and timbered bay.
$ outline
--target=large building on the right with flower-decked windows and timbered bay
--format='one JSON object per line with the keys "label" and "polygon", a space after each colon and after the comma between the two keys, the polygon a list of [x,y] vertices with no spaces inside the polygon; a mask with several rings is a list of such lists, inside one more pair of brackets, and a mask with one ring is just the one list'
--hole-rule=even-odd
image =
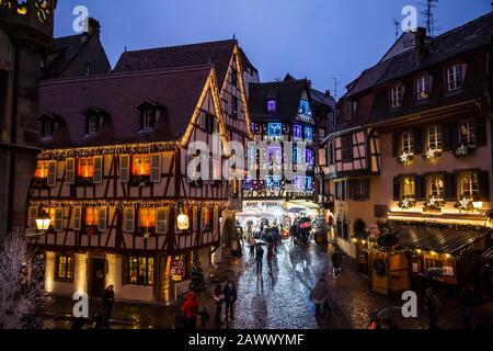
{"label": "large building on the right with flower-decked windows and timbered bay", "polygon": [[440,268],[457,284],[480,271],[467,263],[491,242],[492,33],[491,12],[437,37],[405,33],[347,87],[326,152],[348,252],[379,222],[411,274]]}

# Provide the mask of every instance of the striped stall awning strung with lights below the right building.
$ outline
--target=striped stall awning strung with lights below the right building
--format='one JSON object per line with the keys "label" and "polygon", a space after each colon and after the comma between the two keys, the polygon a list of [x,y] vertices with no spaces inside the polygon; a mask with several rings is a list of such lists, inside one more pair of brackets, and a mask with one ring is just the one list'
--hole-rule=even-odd
{"label": "striped stall awning strung with lights below the right building", "polygon": [[455,253],[490,234],[490,229],[449,229],[424,226],[397,226],[399,245],[442,253]]}

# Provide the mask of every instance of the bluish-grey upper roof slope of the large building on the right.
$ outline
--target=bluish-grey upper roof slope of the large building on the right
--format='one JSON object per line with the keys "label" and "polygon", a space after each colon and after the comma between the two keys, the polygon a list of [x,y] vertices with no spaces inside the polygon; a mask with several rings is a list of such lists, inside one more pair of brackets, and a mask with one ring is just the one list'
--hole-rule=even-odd
{"label": "bluish-grey upper roof slope of the large building on the right", "polygon": [[411,49],[366,69],[348,87],[347,93],[342,99],[354,97],[371,87],[424,69],[477,47],[490,45],[492,33],[493,12],[489,12],[437,37],[429,38],[429,43],[426,45],[426,54],[419,63],[416,61],[415,49]]}

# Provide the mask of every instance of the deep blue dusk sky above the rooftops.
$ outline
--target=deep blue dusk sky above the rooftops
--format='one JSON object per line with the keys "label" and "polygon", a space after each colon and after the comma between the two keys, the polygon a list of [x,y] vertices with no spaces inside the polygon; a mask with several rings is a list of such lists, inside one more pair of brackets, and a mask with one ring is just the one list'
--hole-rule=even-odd
{"label": "deep blue dusk sky above the rooftops", "polygon": [[[62,0],[56,11],[56,36],[74,34],[78,4],[102,25],[112,66],[125,49],[153,48],[232,38],[256,66],[262,81],[286,72],[308,77],[317,89],[344,87],[375,65],[395,38],[392,19],[402,8],[425,0]],[[440,34],[491,10],[490,0],[439,0]],[[420,14],[419,24],[424,23]]]}

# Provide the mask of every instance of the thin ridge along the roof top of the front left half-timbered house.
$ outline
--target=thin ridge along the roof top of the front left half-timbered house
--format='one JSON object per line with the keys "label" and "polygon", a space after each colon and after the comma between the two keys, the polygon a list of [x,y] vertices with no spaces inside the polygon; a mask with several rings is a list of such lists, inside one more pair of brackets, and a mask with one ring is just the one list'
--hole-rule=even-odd
{"label": "thin ridge along the roof top of the front left half-timbered house", "polygon": [[68,77],[59,79],[48,79],[42,82],[42,86],[50,86],[54,83],[62,82],[74,82],[74,81],[94,81],[94,80],[108,80],[124,77],[139,77],[139,76],[152,76],[162,73],[179,73],[179,72],[191,72],[198,70],[209,70],[213,65],[195,65],[185,67],[173,67],[173,68],[162,68],[162,69],[148,69],[148,70],[136,70],[136,71],[124,71],[124,72],[111,72],[104,75],[94,76],[81,76],[81,77]]}

